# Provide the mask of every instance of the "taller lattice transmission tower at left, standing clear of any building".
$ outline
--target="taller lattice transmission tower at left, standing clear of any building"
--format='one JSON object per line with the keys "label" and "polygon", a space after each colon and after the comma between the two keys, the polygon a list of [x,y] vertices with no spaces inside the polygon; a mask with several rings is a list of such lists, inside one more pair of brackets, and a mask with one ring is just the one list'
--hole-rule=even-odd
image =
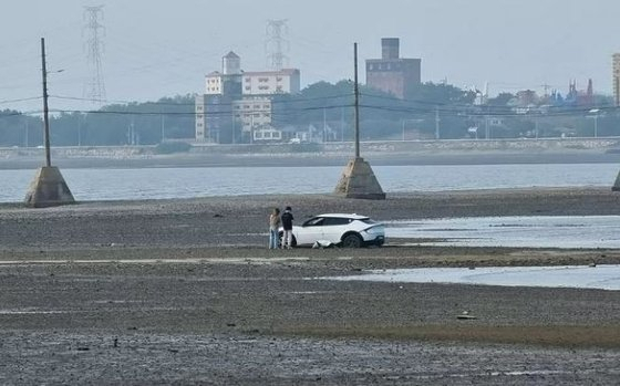
{"label": "taller lattice transmission tower at left, standing clear of any building", "polygon": [[103,36],[105,28],[100,21],[103,20],[103,6],[84,7],[84,34],[87,34],[85,41],[86,59],[89,61],[90,76],[84,84],[84,97],[91,100],[94,104],[103,104],[105,100],[105,84],[103,82],[103,70],[101,65],[101,56],[103,54]]}

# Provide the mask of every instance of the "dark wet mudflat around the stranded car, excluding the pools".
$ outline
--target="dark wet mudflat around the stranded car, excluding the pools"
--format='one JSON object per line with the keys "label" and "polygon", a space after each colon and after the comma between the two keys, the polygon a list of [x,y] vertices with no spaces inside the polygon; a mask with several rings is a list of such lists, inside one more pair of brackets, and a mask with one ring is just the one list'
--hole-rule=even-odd
{"label": "dark wet mudflat around the stranded car, excluding the pools", "polygon": [[[620,250],[267,249],[293,208],[378,220],[620,215],[609,189],[0,206],[3,384],[613,384],[620,291],[338,282],[366,269],[620,263]],[[464,312],[475,319],[459,319]]]}

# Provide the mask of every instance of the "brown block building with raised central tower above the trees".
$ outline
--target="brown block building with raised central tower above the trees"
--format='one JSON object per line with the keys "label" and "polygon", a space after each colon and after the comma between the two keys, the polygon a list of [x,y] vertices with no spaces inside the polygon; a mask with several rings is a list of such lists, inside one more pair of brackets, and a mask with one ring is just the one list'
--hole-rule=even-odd
{"label": "brown block building with raised central tower above the trees", "polygon": [[421,59],[399,56],[399,38],[381,39],[381,59],[366,60],[366,85],[404,98],[421,82]]}

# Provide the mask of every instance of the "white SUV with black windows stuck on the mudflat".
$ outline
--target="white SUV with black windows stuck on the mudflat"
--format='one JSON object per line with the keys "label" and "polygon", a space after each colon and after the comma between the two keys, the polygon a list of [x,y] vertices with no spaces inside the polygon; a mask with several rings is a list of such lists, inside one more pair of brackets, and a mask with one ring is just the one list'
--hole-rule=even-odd
{"label": "white SUV with black windows stuck on the mudflat", "polygon": [[[280,237],[282,232],[280,230]],[[291,244],[330,246],[345,248],[362,246],[383,246],[385,227],[366,216],[348,213],[327,213],[314,216],[301,225],[292,227]]]}

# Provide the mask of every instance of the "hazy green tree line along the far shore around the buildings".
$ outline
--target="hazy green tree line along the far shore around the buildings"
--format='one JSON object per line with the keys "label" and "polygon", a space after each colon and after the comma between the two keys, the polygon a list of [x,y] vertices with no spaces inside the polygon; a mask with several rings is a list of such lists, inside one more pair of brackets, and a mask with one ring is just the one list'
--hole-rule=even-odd
{"label": "hazy green tree line along the far shore around the buildings", "polygon": [[[476,91],[448,84],[424,83],[404,100],[366,86],[360,87],[362,139],[519,138],[559,136],[620,136],[620,115],[608,96],[595,95],[589,105],[557,105],[545,97],[525,103],[523,95],[500,93],[482,101]],[[110,104],[97,111],[64,111],[51,116],[53,146],[156,145],[194,138],[195,95],[156,102]],[[207,113],[208,114],[208,113]],[[231,113],[227,113],[231,114]],[[242,138],[240,123],[230,116],[221,143]],[[272,100],[273,126],[329,125],[338,132],[330,140],[353,137],[353,84],[318,82],[299,94]],[[235,133],[235,138],[232,134]],[[40,146],[40,114],[0,111],[0,146]]]}

